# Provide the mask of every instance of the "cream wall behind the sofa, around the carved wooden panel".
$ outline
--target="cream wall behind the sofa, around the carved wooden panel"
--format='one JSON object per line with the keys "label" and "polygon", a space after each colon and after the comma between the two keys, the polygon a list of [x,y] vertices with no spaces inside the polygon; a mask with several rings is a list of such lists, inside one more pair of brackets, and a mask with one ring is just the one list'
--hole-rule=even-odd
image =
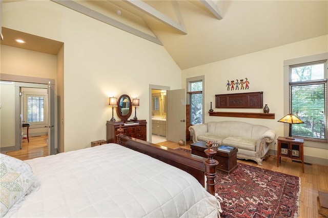
{"label": "cream wall behind the sofa, around the carved wooden panel", "polygon": [[[204,123],[220,120],[239,120],[242,122],[268,126],[276,131],[277,137],[284,136],[284,125],[277,120],[283,117],[283,61],[320,54],[328,51],[328,35],[287,44],[273,49],[251,53],[227,60],[182,70],[182,81],[199,75],[205,76],[206,111]],[[250,89],[227,91],[227,80],[248,78]],[[185,84],[183,84],[185,85]],[[218,109],[215,108],[215,94],[243,93],[263,91],[263,104],[268,104],[270,113],[275,113],[275,119],[238,118],[209,116],[210,102],[214,111],[263,112],[262,109]],[[288,125],[287,125],[288,126]],[[328,150],[306,147],[311,141],[304,142],[304,156],[322,158],[328,165]],[[276,149],[276,148],[271,148]],[[308,158],[309,160],[310,158]],[[306,161],[306,159],[305,159]],[[309,160],[310,161],[310,160]],[[312,161],[312,160],[311,160]]]}

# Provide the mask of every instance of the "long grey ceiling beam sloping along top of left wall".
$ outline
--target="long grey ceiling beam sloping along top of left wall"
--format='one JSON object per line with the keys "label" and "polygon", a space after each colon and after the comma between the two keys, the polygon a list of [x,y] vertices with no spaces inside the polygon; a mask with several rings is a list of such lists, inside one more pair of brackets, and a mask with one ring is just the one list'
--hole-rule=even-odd
{"label": "long grey ceiling beam sloping along top of left wall", "polygon": [[163,45],[158,38],[149,35],[147,33],[141,32],[137,29],[134,29],[128,25],[125,25],[124,23],[121,23],[111,17],[105,16],[104,14],[101,14],[99,12],[96,12],[94,10],[91,10],[90,8],[87,8],[83,5],[77,4],[76,2],[73,2],[71,0],[65,0],[65,1],[61,1],[61,0],[51,0],[52,2],[58,3],[59,5],[65,6],[69,9],[72,9],[74,11],[77,11],[79,13],[82,13],[84,15],[87,15],[89,17],[92,17],[96,20],[99,20],[101,22],[105,22],[108,25],[111,25],[113,27],[116,27],[120,30],[126,31],[128,33],[131,33],[133,35],[139,36],[141,38],[147,39],[149,41],[155,42],[157,44]]}

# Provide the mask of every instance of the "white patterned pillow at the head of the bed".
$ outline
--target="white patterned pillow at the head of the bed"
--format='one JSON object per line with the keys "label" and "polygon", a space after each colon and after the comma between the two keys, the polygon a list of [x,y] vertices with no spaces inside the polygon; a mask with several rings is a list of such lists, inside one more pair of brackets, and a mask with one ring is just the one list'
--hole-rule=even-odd
{"label": "white patterned pillow at the head of the bed", "polygon": [[24,197],[38,187],[39,182],[28,163],[0,154],[0,217],[6,213],[10,216]]}

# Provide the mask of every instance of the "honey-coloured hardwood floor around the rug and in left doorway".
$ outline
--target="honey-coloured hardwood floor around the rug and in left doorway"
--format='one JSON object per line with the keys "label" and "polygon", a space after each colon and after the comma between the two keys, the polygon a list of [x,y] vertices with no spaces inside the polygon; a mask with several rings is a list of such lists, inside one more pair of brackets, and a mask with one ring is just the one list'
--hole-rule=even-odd
{"label": "honey-coloured hardwood floor around the rug and in left doorway", "polygon": [[[160,142],[161,146],[171,149],[185,148],[190,149],[191,141],[185,146],[179,146],[178,143],[165,141]],[[21,160],[27,160],[35,157],[47,156],[47,136],[30,137],[23,140],[23,149],[16,152],[8,152],[7,155],[16,157]],[[263,161],[263,165],[259,166],[254,161],[238,160],[238,162],[249,164],[252,166],[270,169],[272,171],[298,176],[301,178],[301,195],[299,199],[299,216],[307,217],[324,217],[318,213],[318,191],[328,192],[328,166],[321,165],[304,165],[304,173],[302,173],[302,165],[299,162],[292,162],[290,159],[283,159],[279,167],[277,167],[276,156],[269,156]]]}

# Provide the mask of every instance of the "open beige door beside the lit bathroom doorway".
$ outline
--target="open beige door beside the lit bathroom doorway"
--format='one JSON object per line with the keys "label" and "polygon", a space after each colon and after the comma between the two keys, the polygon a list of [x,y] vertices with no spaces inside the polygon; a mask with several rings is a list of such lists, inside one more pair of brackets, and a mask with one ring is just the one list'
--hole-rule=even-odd
{"label": "open beige door beside the lit bathroom doorway", "polygon": [[186,141],[186,91],[167,90],[167,139]]}

